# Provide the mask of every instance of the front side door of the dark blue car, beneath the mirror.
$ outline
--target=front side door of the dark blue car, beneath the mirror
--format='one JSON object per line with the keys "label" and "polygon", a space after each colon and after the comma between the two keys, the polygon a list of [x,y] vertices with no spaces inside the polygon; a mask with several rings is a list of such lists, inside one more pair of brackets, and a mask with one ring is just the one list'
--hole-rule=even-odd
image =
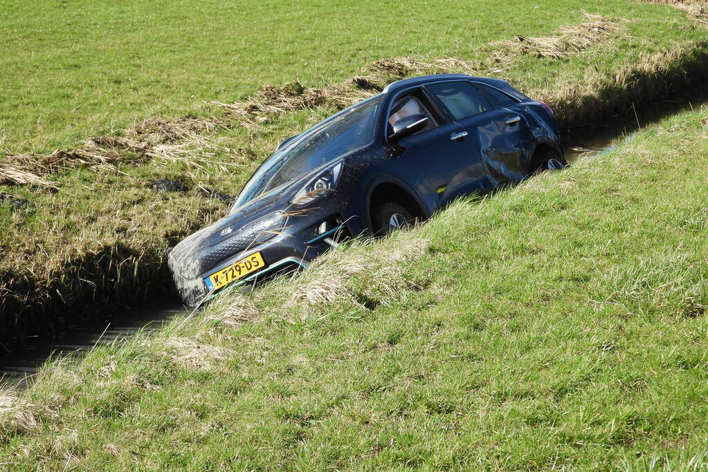
{"label": "front side door of the dark blue car, beneath the mirror", "polygon": [[430,125],[396,143],[395,164],[398,173],[407,176],[432,211],[440,206],[440,194],[459,173],[467,152],[459,140],[462,131],[459,124],[446,119],[421,88],[407,90],[394,98],[388,113],[389,134],[396,119],[410,114],[425,114]]}

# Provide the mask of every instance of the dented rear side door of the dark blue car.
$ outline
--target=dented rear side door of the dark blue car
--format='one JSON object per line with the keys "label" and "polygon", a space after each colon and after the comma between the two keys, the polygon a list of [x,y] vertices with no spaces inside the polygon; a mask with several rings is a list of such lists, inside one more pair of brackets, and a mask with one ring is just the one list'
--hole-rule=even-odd
{"label": "dented rear side door of the dark blue car", "polygon": [[465,162],[442,192],[443,201],[485,193],[498,184],[525,177],[525,158],[533,138],[522,115],[494,107],[468,81],[429,83],[426,90],[460,128]]}

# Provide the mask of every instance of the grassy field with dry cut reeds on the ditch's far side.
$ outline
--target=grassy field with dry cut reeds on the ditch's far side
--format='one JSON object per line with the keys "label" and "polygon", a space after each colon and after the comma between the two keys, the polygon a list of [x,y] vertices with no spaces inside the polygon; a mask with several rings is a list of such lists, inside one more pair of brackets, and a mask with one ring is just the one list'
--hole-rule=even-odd
{"label": "grassy field with dry cut reeds on the ditch's far side", "polygon": [[[462,12],[445,2],[5,0],[0,24],[1,342],[167,290],[166,249],[227,207],[200,189],[236,194],[282,138],[372,93],[346,78],[374,76],[380,87],[438,71],[501,76],[578,125],[695,86],[708,71],[700,22],[630,0],[479,1]],[[515,35],[542,49],[520,51]],[[265,100],[261,85],[295,79],[329,98],[282,95],[291,85],[268,99],[282,112],[243,114]],[[69,153],[50,154],[57,146]],[[40,183],[4,180],[6,165]],[[191,190],[155,191],[164,177]],[[8,203],[17,198],[28,204]]]}

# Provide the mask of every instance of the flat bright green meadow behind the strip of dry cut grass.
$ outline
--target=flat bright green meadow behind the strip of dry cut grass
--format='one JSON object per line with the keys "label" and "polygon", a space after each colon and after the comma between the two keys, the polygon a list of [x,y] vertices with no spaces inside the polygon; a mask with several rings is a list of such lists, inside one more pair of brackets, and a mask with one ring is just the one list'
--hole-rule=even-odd
{"label": "flat bright green meadow behind the strip of dry cut grass", "polygon": [[[602,71],[703,37],[684,14],[636,1],[0,1],[0,144],[51,151],[154,115],[204,112],[265,84],[339,81],[384,57],[474,57],[490,41],[546,35],[581,8],[634,20],[627,48],[566,64]],[[531,18],[531,20],[530,20]],[[541,84],[554,64],[535,66]]]}

